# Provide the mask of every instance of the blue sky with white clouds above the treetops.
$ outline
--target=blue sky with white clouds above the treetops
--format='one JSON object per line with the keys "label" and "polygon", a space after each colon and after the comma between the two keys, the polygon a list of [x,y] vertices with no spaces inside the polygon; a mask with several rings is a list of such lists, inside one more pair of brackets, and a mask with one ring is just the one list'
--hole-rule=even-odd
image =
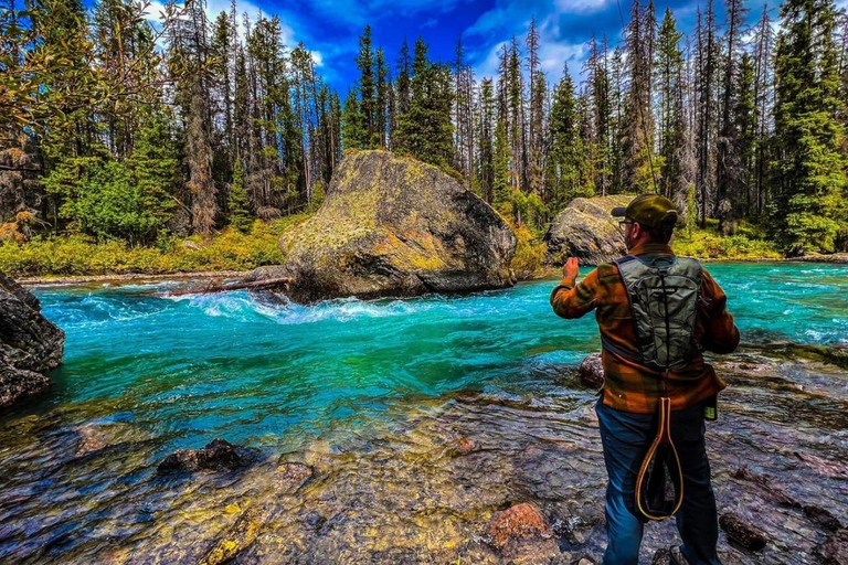
{"label": "blue sky with white clouds above the treetops", "polygon": [[[230,0],[206,1],[211,18],[230,9]],[[698,7],[703,9],[706,1],[656,0],[657,17],[661,19],[665,9],[671,8],[678,28],[689,33]],[[760,18],[764,1],[749,2],[752,23]],[[848,0],[838,2],[848,6]],[[776,18],[776,0],[768,3]],[[151,12],[158,11],[157,4],[155,0]],[[593,34],[598,41],[606,35],[611,45],[621,41],[622,18],[627,20],[630,0],[237,0],[237,7],[252,18],[258,12],[279,15],[284,42],[294,47],[303,41],[314,53],[320,74],[343,96],[358,77],[353,58],[367,23],[371,24],[374,44],[385,50],[393,74],[404,36],[412,49],[422,35],[436,61],[453,61],[462,36],[466,61],[479,79],[496,74],[499,47],[513,35],[523,47],[530,20],[536,17],[542,67],[549,82],[555,82],[566,62],[572,75],[580,72]],[[722,21],[721,0],[716,0],[716,10]]]}

